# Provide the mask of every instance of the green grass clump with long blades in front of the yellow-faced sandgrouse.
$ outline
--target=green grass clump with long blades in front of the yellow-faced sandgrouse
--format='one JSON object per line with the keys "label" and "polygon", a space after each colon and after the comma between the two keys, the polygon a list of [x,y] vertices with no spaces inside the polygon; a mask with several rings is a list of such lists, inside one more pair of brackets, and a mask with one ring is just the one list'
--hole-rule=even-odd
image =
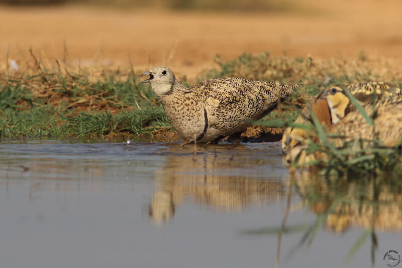
{"label": "green grass clump with long blades in front of the yellow-faced sandgrouse", "polygon": [[[297,156],[292,159],[292,167],[320,169],[322,175],[335,176],[336,178],[359,177],[362,174],[370,176],[384,176],[384,174],[399,171],[402,164],[402,139],[392,147],[384,146],[380,141],[378,132],[374,131],[374,118],[376,112],[369,116],[358,100],[344,88],[357,112],[364,118],[365,123],[371,128],[373,139],[361,137],[343,137],[338,133],[325,130],[314,112],[311,113],[313,124],[286,123],[284,121],[266,121],[265,125],[294,126],[306,129],[308,139],[300,149]],[[361,125],[360,127],[364,127]],[[369,134],[369,133],[367,133]],[[402,133],[401,133],[402,135]],[[296,150],[296,152],[298,152]],[[289,152],[291,154],[291,152]]]}

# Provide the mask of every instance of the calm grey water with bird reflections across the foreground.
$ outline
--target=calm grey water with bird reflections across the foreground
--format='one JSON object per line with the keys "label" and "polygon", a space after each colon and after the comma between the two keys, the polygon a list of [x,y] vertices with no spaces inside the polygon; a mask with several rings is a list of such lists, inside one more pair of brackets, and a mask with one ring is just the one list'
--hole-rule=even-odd
{"label": "calm grey water with bird reflections across the foreground", "polygon": [[0,266],[274,267],[286,215],[280,267],[402,253],[400,189],[292,182],[279,143],[0,143]]}

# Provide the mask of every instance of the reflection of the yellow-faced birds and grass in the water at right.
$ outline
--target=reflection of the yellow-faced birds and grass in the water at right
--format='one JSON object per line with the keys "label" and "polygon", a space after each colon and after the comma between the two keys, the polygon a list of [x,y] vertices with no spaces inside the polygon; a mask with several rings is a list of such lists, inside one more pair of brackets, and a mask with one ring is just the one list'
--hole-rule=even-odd
{"label": "reflection of the yellow-faced birds and grass in the water at right", "polygon": [[340,233],[351,227],[402,231],[402,188],[398,178],[358,177],[331,183],[303,171],[293,179],[311,210],[326,214],[329,231]]}

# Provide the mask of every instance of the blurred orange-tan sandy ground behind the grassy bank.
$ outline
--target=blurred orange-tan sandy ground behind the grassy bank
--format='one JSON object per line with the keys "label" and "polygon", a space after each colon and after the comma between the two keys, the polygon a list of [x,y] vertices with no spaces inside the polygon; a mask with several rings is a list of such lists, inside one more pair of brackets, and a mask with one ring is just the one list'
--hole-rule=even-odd
{"label": "blurred orange-tan sandy ground behind the grassy bank", "polygon": [[[402,62],[402,2],[313,1],[287,13],[200,13],[90,7],[0,7],[0,59],[29,55],[135,69],[168,65],[194,77],[243,52],[318,58],[360,51]],[[67,50],[65,50],[65,47]]]}

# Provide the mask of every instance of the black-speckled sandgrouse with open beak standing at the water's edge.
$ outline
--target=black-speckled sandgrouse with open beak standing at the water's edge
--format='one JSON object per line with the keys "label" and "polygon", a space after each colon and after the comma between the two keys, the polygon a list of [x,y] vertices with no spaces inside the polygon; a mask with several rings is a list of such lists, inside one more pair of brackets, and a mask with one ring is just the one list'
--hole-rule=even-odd
{"label": "black-speckled sandgrouse with open beak standing at the water's edge", "polygon": [[208,143],[231,136],[238,142],[251,120],[259,119],[290,95],[299,84],[218,78],[190,87],[180,84],[163,66],[142,75],[150,83],[178,134],[188,142]]}

